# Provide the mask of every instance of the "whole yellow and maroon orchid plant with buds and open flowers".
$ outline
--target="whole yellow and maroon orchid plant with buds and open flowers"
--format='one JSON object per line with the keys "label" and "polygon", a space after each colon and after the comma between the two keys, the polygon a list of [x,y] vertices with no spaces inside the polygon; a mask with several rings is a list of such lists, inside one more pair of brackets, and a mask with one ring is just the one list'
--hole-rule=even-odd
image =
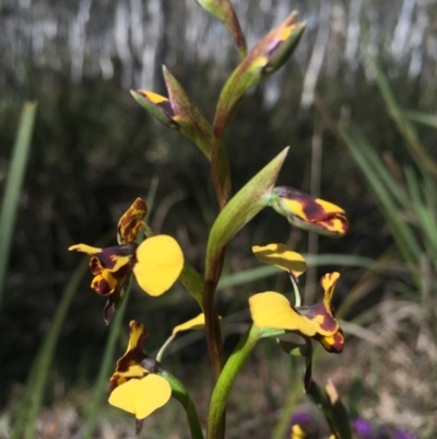
{"label": "whole yellow and maroon orchid plant with buds and open flowers", "polygon": [[[211,180],[220,212],[209,234],[204,274],[199,274],[185,259],[174,238],[156,234],[144,222],[147,206],[141,198],[134,200],[119,220],[118,245],[97,249],[76,244],[69,250],[91,256],[90,267],[94,276],[91,287],[106,298],[104,321],[107,324],[127,297],[133,277],[150,296],[165,293],[178,280],[192,294],[199,304],[199,315],[176,326],[156,358],[151,358],[143,350],[143,339],[149,335],[144,324],[130,322],[129,345],[109,379],[109,404],[132,414],[137,434],[140,434],[143,419],[175,397],[186,411],[193,439],[203,439],[204,432],[209,439],[222,439],[225,437],[225,406],[231,388],[258,342],[262,338],[277,339],[279,346],[288,355],[305,357],[303,385],[311,394],[317,389],[311,377],[311,342],[319,342],[328,353],[341,353],[344,344],[331,304],[340,274],[326,274],[320,281],[323,300],[304,307],[298,281],[307,267],[304,257],[282,243],[253,245],[252,252],[261,263],[275,265],[288,275],[294,298],[288,300],[281,291],[253,293],[248,303],[251,315],[249,330],[225,359],[215,299],[227,243],[265,207],[284,216],[293,227],[324,235],[342,236],[349,224],[340,207],[292,187],[275,186],[288,148],[233,195],[228,159],[222,143],[224,132],[245,93],[280,69],[293,54],[305,23],[297,22],[297,14],[292,12],[247,53],[241,27],[229,1],[198,0],[198,3],[225,25],[240,55],[240,62],[222,89],[212,125],[166,67],[163,74],[168,97],[145,90],[133,90],[131,94],[157,120],[188,137],[211,164]],[[215,383],[206,426],[200,425],[196,404],[187,389],[166,370],[163,361],[166,347],[179,333],[190,330],[205,333]],[[287,333],[299,335],[303,343],[292,344],[283,339]],[[316,396],[314,398],[317,401]],[[339,428],[338,424],[335,420],[330,424],[333,437],[346,439],[347,434],[342,431],[347,429]]]}

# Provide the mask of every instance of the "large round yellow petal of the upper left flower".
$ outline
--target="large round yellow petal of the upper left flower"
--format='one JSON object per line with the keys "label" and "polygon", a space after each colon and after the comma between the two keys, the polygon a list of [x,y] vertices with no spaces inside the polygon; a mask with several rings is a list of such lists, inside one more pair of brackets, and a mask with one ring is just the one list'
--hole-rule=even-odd
{"label": "large round yellow petal of the upper left flower", "polygon": [[182,250],[166,234],[143,241],[137,250],[137,259],[133,273],[140,287],[151,296],[167,291],[184,268]]}

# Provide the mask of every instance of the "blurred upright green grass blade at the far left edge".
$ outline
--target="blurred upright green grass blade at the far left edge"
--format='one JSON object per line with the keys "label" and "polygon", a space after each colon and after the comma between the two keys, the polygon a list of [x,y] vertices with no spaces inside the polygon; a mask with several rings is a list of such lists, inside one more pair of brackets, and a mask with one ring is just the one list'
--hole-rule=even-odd
{"label": "blurred upright green grass blade at the far left edge", "polygon": [[36,104],[24,104],[15,145],[12,151],[11,165],[4,189],[0,215],[0,305],[8,270],[9,253],[12,244],[21,188],[31,148],[34,129]]}

